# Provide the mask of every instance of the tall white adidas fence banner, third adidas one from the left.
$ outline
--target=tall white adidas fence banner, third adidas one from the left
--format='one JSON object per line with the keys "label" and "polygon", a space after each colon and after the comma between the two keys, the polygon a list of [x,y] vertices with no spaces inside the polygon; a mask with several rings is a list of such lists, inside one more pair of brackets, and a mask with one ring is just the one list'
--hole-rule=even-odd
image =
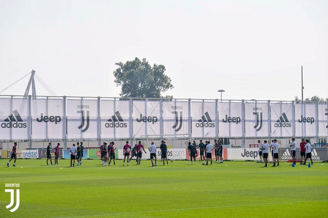
{"label": "tall white adidas fence banner, third adidas one from the left", "polygon": [[215,102],[191,102],[192,137],[216,137]]}

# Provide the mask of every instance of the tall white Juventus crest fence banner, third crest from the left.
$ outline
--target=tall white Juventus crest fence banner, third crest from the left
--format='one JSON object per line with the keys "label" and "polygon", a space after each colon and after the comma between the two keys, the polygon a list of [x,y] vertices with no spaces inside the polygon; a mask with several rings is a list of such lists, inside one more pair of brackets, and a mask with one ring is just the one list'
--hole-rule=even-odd
{"label": "tall white Juventus crest fence banner, third crest from the left", "polygon": [[269,137],[268,103],[245,103],[245,136]]}

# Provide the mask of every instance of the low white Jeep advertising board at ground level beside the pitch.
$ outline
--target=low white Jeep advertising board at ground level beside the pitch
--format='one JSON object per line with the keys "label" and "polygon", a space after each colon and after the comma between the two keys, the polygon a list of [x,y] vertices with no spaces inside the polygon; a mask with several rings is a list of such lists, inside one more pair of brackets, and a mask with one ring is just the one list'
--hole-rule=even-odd
{"label": "low white Jeep advertising board at ground level beside the pitch", "polygon": [[256,160],[259,159],[258,148],[227,148],[229,160]]}

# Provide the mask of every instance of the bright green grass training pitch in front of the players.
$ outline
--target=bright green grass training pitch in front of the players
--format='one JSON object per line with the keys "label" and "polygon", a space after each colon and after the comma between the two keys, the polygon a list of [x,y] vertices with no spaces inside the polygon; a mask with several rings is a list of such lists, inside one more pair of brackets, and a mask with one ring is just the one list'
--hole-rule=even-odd
{"label": "bright green grass training pitch in front of the players", "polygon": [[[0,217],[328,217],[328,164],[311,168],[227,161],[189,165],[150,160],[122,167],[84,160],[47,166],[46,160],[0,160]],[[20,184],[10,212],[5,183]]]}

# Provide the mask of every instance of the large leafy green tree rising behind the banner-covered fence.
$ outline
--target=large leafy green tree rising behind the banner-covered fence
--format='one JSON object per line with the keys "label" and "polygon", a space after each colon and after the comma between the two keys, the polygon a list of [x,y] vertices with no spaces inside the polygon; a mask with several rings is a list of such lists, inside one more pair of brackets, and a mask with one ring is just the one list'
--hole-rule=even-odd
{"label": "large leafy green tree rising behind the banner-covered fence", "polygon": [[[165,66],[154,64],[151,67],[146,59],[135,58],[119,66],[113,73],[116,85],[121,85],[121,97],[161,98],[161,93],[174,88],[171,78],[165,75]],[[173,98],[173,96],[166,96]],[[164,98],[166,98],[164,97]]]}

